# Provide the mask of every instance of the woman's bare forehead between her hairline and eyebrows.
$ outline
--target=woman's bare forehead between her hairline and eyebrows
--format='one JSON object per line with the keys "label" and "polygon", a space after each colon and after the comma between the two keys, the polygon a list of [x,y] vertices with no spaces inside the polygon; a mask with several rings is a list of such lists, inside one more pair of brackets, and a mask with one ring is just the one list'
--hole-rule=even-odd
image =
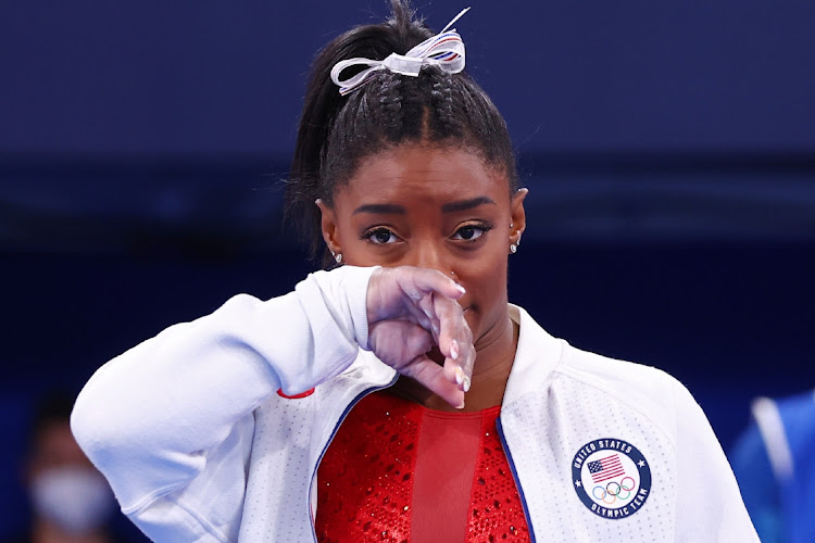
{"label": "woman's bare forehead between her hairline and eyebrows", "polygon": [[337,195],[352,202],[408,202],[474,194],[509,202],[506,175],[463,148],[405,144],[364,159]]}

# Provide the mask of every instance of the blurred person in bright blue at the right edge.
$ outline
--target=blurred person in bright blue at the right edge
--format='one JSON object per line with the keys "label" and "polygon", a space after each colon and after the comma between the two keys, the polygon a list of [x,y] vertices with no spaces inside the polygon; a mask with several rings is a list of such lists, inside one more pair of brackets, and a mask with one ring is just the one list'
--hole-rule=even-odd
{"label": "blurred person in bright blue at the right edge", "polygon": [[815,541],[815,390],[753,402],[730,460],[764,543]]}

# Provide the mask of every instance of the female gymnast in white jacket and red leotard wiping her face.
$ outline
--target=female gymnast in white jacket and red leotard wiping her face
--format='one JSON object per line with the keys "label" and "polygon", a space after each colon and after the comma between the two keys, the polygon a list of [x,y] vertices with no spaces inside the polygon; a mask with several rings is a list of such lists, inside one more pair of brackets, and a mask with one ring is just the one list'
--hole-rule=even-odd
{"label": "female gymnast in white jacket and red leotard wiping her face", "polygon": [[[288,198],[329,270],[100,368],[78,442],[155,541],[757,541],[690,393],[507,303],[526,227],[461,36],[317,56]],[[460,14],[461,15],[461,14]]]}

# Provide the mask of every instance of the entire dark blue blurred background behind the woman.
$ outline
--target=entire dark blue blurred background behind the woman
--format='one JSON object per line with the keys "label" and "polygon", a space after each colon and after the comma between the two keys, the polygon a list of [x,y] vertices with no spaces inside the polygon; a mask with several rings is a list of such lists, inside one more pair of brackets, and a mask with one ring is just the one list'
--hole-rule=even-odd
{"label": "entire dark blue blurred background behind the woman", "polygon": [[[464,5],[417,5],[440,28]],[[51,387],[312,266],[281,223],[315,51],[384,2],[0,5],[0,535]],[[475,2],[456,28],[529,187],[511,299],[680,378],[729,447],[815,386],[815,4]]]}

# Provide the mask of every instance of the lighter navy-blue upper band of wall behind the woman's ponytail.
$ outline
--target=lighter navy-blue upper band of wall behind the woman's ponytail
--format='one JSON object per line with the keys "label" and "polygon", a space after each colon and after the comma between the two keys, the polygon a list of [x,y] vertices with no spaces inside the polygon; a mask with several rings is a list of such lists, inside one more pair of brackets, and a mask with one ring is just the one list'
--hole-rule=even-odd
{"label": "lighter navy-blue upper band of wall behind the woman's ponytail", "polygon": [[[444,24],[459,1],[417,2]],[[815,148],[815,4],[475,2],[468,68],[523,150]],[[0,149],[288,155],[314,52],[385,2],[5,2]]]}

